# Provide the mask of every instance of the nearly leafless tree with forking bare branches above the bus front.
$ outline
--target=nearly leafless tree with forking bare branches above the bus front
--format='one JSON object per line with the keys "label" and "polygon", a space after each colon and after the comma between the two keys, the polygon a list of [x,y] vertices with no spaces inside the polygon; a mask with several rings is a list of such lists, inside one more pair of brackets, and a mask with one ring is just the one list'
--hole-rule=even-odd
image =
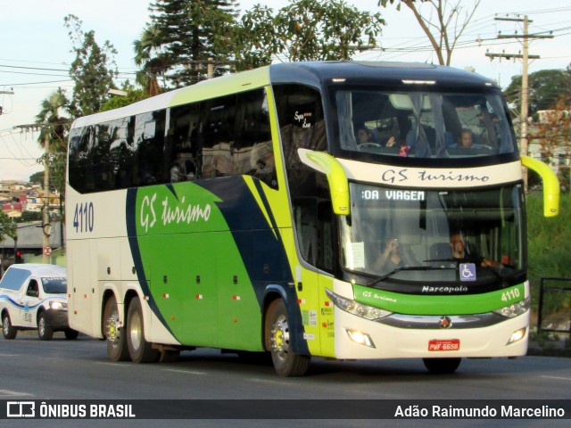
{"label": "nearly leafless tree with forking bare branches above the bus front", "polygon": [[[379,0],[378,5],[386,7],[394,4],[395,0]],[[396,0],[397,10],[401,10],[404,4],[414,14],[418,25],[428,37],[430,45],[436,53],[440,65],[451,65],[452,52],[458,43],[468,22],[474,16],[480,0],[474,2],[474,7],[468,12],[462,13],[463,7],[460,0],[449,2],[448,0]],[[466,2],[465,2],[466,3]],[[429,9],[429,13],[422,14],[423,4]]]}

